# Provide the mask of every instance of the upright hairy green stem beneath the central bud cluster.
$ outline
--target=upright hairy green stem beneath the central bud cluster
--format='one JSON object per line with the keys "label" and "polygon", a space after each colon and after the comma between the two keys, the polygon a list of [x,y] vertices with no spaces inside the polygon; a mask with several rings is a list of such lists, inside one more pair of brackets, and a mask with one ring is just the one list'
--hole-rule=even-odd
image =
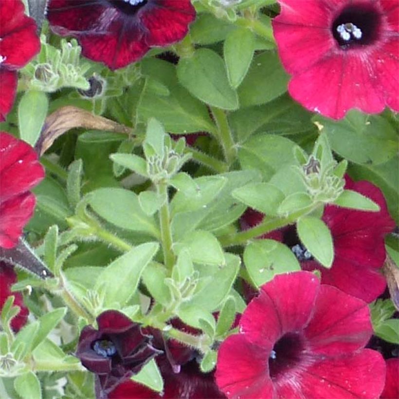
{"label": "upright hairy green stem beneath the central bud cluster", "polygon": [[170,229],[170,213],[169,213],[169,200],[167,195],[167,184],[163,181],[157,184],[158,194],[165,198],[164,204],[162,205],[159,216],[161,226],[161,241],[163,250],[163,262],[168,270],[172,270],[175,264],[175,255],[172,251],[172,232]]}

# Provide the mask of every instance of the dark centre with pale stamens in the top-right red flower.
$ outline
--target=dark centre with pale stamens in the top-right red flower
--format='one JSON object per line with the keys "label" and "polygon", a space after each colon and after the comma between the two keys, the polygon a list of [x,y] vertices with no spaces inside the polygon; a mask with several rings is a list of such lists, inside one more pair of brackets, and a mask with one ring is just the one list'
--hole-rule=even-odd
{"label": "dark centre with pale stamens in the top-right red flower", "polygon": [[380,14],[371,5],[349,6],[332,24],[332,34],[341,48],[373,43],[379,34]]}

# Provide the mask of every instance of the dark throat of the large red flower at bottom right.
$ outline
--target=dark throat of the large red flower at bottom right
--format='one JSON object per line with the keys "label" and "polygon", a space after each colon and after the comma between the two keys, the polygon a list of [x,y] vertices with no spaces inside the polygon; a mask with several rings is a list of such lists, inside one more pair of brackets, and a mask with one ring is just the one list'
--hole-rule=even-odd
{"label": "dark throat of the large red flower at bottom right", "polygon": [[278,378],[295,367],[302,359],[304,350],[300,334],[290,332],[283,335],[273,346],[269,357],[269,373],[272,379]]}

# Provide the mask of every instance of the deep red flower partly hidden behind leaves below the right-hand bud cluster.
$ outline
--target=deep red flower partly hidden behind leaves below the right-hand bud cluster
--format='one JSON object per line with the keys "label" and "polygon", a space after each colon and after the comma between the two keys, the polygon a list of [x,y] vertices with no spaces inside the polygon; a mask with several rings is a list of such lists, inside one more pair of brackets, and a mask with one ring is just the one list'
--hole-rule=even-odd
{"label": "deep red flower partly hidden behind leaves below the right-hand bud cluster", "polygon": [[[303,270],[319,270],[322,283],[363,299],[375,300],[386,287],[380,272],[386,251],[384,236],[395,227],[381,190],[368,181],[353,182],[346,177],[345,188],[357,191],[380,205],[379,212],[366,212],[326,205],[323,221],[331,230],[334,243],[332,267],[320,265],[299,241],[295,226],[275,230],[262,238],[271,238],[288,245],[300,261]],[[253,210],[241,218],[246,229],[260,223],[263,215]]]}

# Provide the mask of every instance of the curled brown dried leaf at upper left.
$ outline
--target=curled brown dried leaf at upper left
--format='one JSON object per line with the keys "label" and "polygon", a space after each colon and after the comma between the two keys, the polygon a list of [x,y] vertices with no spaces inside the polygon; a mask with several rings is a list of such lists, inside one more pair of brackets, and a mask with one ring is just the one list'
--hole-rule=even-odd
{"label": "curled brown dried leaf at upper left", "polygon": [[93,115],[85,109],[73,106],[61,107],[46,118],[35,146],[37,154],[42,156],[55,139],[75,127],[125,134],[132,132],[131,127],[121,125],[102,116]]}

